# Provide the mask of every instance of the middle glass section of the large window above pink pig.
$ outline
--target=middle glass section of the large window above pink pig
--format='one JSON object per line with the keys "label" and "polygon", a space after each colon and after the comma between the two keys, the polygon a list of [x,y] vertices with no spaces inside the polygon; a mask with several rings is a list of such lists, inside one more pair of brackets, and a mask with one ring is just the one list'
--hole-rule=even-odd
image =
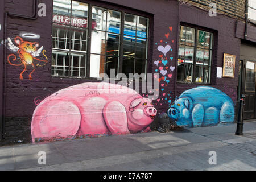
{"label": "middle glass section of the large window above pink pig", "polygon": [[121,12],[96,6],[93,12],[97,26],[91,35],[90,77],[110,76],[110,69],[119,69]]}

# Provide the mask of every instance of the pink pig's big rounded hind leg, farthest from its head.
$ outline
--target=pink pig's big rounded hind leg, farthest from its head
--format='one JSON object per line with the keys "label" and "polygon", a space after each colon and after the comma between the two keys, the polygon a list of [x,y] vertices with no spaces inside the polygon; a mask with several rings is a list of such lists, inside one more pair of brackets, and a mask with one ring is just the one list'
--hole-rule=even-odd
{"label": "pink pig's big rounded hind leg, farthest from its head", "polygon": [[54,137],[72,137],[79,130],[79,107],[69,101],[49,100],[36,107],[32,123],[32,141]]}

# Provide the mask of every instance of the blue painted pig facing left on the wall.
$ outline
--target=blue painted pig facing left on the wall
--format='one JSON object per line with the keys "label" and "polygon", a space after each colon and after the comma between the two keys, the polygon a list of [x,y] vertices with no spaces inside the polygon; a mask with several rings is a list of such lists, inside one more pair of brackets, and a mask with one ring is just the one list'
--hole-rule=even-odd
{"label": "blue painted pig facing left on the wall", "polygon": [[183,92],[168,109],[179,126],[213,126],[234,121],[234,104],[224,92],[200,86]]}

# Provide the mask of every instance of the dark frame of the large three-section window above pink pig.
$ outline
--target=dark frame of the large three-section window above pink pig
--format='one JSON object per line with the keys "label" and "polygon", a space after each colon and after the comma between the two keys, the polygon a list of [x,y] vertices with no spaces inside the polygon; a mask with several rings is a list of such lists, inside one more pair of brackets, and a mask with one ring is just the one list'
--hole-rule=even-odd
{"label": "dark frame of the large three-section window above pink pig", "polygon": [[[113,3],[104,3],[104,2],[97,2],[97,1],[90,1],[90,0],[71,0],[71,1],[79,1],[81,3],[87,3],[88,4],[88,24],[87,24],[87,40],[86,40],[86,75],[85,77],[77,77],[77,76],[57,76],[52,75],[51,70],[51,78],[75,78],[75,79],[90,79],[90,80],[98,80],[99,78],[96,77],[90,77],[90,55],[91,55],[91,35],[92,35],[92,8],[93,6],[101,7],[102,9],[108,9],[108,10],[114,10],[119,11],[121,13],[121,25],[120,25],[120,38],[119,38],[119,68],[118,73],[122,73],[122,63],[123,63],[123,38],[124,38],[124,27],[125,27],[125,14],[132,14],[138,16],[143,16],[144,18],[148,18],[148,30],[147,30],[147,50],[146,50],[146,65],[145,65],[145,71],[146,73],[152,73],[152,70],[150,69],[152,67],[151,61],[152,61],[152,23],[153,23],[153,16],[149,13],[144,13],[143,11],[134,10],[134,9],[128,9],[122,5],[115,5]],[[53,3],[53,1],[52,1]],[[71,3],[72,4],[72,3]],[[52,14],[53,14],[53,6],[52,6]],[[53,28],[53,23],[52,27]],[[52,30],[52,29],[51,29]],[[106,58],[105,58],[106,59]],[[135,58],[134,58],[135,59]],[[71,66],[71,65],[70,65]],[[52,69],[52,66],[51,66]],[[134,74],[134,73],[133,73]],[[116,75],[115,75],[116,76]],[[147,79],[147,77],[145,78]],[[120,78],[115,78],[115,80],[120,80]],[[128,77],[127,77],[128,80]]]}

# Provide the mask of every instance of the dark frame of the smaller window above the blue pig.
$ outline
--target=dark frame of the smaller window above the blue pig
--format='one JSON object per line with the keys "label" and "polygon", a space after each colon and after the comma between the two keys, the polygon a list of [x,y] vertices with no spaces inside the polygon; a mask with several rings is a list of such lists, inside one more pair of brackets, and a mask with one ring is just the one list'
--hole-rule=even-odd
{"label": "dark frame of the smaller window above the blue pig", "polygon": [[[180,47],[180,43],[179,43],[179,39],[180,39],[180,27],[181,26],[184,26],[184,27],[188,27],[188,28],[193,28],[195,29],[195,40],[194,40],[194,46],[193,46],[193,76],[192,76],[192,81],[191,82],[187,82],[187,81],[178,81],[177,80],[177,76],[178,76],[178,69],[176,69],[176,83],[177,84],[199,84],[199,85],[212,85],[213,84],[213,69],[216,68],[216,65],[215,65],[215,60],[214,60],[214,55],[215,55],[215,43],[217,41],[217,38],[216,38],[216,35],[217,35],[217,32],[214,31],[214,30],[211,30],[211,29],[208,29],[208,28],[205,28],[205,27],[201,27],[201,26],[195,26],[193,24],[188,24],[188,23],[180,23],[179,24],[179,34],[178,34],[178,40],[177,40],[177,60],[178,60],[178,57],[179,57],[179,47]],[[210,68],[210,73],[209,73],[209,76],[210,76],[210,79],[209,79],[209,82],[196,82],[196,77],[195,77],[195,71],[196,71],[196,51],[197,51],[197,32],[201,30],[201,31],[205,31],[205,32],[209,32],[212,34],[212,49],[209,49],[212,51],[212,55],[211,55],[211,64],[210,66],[208,66]],[[185,45],[184,45],[185,46]],[[176,68],[178,67],[178,61],[176,61]]]}

